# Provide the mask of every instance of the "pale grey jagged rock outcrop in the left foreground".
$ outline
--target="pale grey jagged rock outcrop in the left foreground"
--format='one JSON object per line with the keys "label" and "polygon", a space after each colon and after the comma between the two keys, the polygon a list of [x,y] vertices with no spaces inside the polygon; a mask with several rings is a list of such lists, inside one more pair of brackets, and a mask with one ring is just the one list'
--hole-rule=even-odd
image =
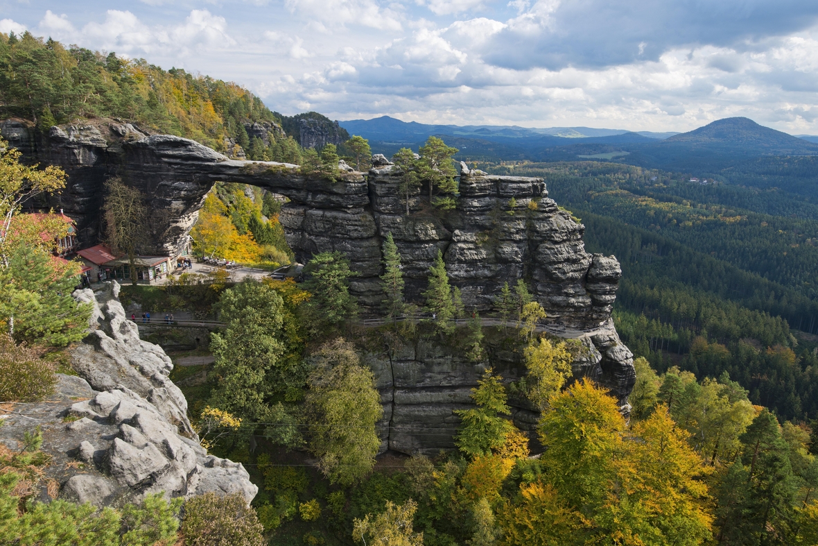
{"label": "pale grey jagged rock outcrop in the left foreground", "polygon": [[51,455],[44,477],[60,485],[61,498],[79,503],[118,506],[151,493],[189,498],[209,491],[238,492],[249,503],[258,488],[240,463],[199,444],[182,391],[168,378],[173,364],[159,346],[139,339],[118,292],[116,282],[97,294],[75,292],[94,307],[91,333],[71,350],[79,377],[58,374],[51,399],[14,408],[0,441],[19,449],[25,431],[40,425]]}

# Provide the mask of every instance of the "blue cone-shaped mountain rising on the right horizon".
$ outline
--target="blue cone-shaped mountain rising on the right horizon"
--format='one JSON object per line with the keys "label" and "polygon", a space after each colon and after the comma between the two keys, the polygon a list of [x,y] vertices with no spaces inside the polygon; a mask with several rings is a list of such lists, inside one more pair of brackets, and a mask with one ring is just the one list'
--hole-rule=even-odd
{"label": "blue cone-shaped mountain rising on the right horizon", "polygon": [[748,118],[726,118],[707,124],[690,133],[681,133],[665,139],[663,144],[715,145],[737,147],[745,151],[775,154],[814,154],[818,146],[803,138],[764,127]]}

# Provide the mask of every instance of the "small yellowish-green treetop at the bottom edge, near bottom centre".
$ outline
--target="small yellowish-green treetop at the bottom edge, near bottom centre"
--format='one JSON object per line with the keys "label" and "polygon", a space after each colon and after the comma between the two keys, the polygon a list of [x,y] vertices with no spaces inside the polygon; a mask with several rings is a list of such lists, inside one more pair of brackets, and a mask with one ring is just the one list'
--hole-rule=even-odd
{"label": "small yellowish-green treetop at the bottom edge, near bottom centre", "polygon": [[353,540],[365,546],[423,546],[423,533],[416,533],[412,525],[416,511],[417,503],[411,499],[400,505],[388,500],[384,512],[353,521]]}

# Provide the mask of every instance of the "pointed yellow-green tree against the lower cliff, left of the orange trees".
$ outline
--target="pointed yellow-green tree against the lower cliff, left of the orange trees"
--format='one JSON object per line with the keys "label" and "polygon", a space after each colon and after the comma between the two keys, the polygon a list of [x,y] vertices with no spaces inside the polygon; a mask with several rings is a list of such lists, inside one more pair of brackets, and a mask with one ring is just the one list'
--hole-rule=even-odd
{"label": "pointed yellow-green tree against the lower cliff, left of the orange trees", "polygon": [[500,449],[506,436],[515,430],[504,417],[510,413],[510,408],[506,405],[506,388],[501,381],[502,377],[494,375],[488,368],[477,381],[477,388],[471,390],[471,399],[477,407],[455,410],[463,422],[455,436],[455,444],[471,458]]}

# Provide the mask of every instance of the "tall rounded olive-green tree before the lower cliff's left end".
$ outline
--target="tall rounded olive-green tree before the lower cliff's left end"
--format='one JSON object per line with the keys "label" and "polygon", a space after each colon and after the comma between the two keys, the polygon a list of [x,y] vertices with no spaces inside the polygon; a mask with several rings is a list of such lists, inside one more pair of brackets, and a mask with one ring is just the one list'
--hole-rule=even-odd
{"label": "tall rounded olive-green tree before the lower cliff's left end", "polygon": [[352,485],[371,472],[380,449],[375,423],[384,410],[375,377],[343,339],[322,345],[312,360],[305,400],[309,448],[330,482]]}

